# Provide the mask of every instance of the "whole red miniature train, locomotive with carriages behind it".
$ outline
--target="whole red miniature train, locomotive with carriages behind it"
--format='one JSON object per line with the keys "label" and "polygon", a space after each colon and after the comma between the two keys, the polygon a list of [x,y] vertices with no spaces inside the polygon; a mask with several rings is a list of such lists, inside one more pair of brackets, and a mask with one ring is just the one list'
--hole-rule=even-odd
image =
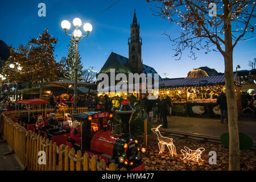
{"label": "whole red miniature train, locomotive with carriages behind it", "polygon": [[[81,123],[81,146],[75,144],[69,137],[69,133],[59,131],[59,128],[52,129],[44,127],[38,131],[38,134],[49,138],[52,142],[68,145],[69,148],[86,152],[89,157],[97,156],[97,159],[104,159],[107,164],[115,163],[117,168],[125,167],[127,170],[144,170],[142,159],[139,158],[139,151],[145,152],[146,148],[138,145],[138,140],[131,137],[130,121],[135,110],[130,106],[129,101],[124,100],[121,108],[116,111],[122,121],[121,135],[112,132],[113,114],[101,111],[89,111],[73,116]],[[17,117],[19,122],[27,130],[35,131],[36,119],[27,122],[26,116]]]}

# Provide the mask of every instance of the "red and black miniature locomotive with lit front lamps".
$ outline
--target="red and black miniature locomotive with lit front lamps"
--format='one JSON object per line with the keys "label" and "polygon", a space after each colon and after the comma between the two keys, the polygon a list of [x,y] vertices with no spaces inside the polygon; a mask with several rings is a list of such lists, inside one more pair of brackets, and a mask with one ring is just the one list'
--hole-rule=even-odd
{"label": "red and black miniature locomotive with lit front lamps", "polygon": [[138,140],[131,137],[130,121],[135,110],[129,101],[122,102],[116,111],[122,121],[122,134],[115,135],[110,130],[112,122],[108,120],[113,114],[107,112],[86,112],[74,116],[81,122],[81,149],[89,156],[96,155],[98,159],[105,159],[107,163],[118,164],[118,168],[141,171],[144,164],[138,157],[138,151],[146,149],[138,146]]}

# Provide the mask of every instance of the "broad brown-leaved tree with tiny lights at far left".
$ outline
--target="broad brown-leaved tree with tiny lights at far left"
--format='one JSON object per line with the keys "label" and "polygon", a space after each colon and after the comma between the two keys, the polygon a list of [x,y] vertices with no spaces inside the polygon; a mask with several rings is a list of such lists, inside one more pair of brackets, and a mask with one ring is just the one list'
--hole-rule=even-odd
{"label": "broad brown-leaved tree with tiny lights at far left", "polygon": [[[30,81],[37,85],[44,81],[56,81],[63,65],[56,63],[53,55],[57,39],[46,29],[38,38],[32,38],[26,46],[10,47],[10,57],[3,67],[2,75],[10,84]],[[13,65],[17,69],[13,69]]]}

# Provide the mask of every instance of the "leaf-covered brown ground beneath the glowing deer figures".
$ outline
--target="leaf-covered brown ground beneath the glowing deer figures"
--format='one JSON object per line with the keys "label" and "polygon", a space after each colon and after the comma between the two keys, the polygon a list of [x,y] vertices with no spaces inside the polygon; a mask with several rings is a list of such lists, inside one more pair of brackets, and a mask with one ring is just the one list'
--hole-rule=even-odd
{"label": "leaf-covered brown ground beneath the glowing deer figures", "polygon": [[[143,137],[139,137],[140,142],[144,145]],[[197,142],[195,140],[173,138],[177,155],[172,157],[167,147],[163,154],[159,154],[158,139],[156,134],[148,135],[148,146],[146,153],[142,154],[142,160],[145,164],[145,170],[150,171],[226,171],[228,170],[229,153],[228,148],[221,144],[210,142]],[[204,160],[201,165],[197,162],[182,160],[183,154],[181,149],[184,146],[196,150],[203,147],[205,151],[201,154]],[[217,164],[209,164],[209,151],[216,151]],[[252,150],[240,151],[240,162],[242,171],[256,171],[256,152]]]}

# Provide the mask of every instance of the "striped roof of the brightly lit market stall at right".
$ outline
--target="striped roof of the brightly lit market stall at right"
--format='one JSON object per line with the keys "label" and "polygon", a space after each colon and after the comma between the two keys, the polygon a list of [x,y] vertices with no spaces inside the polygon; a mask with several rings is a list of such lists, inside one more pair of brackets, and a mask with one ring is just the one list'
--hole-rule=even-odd
{"label": "striped roof of the brightly lit market stall at right", "polygon": [[[234,81],[236,74],[234,74]],[[192,86],[192,85],[208,85],[208,84],[222,84],[225,83],[224,75],[199,77],[199,78],[180,78],[176,80],[159,81],[159,86]]]}

